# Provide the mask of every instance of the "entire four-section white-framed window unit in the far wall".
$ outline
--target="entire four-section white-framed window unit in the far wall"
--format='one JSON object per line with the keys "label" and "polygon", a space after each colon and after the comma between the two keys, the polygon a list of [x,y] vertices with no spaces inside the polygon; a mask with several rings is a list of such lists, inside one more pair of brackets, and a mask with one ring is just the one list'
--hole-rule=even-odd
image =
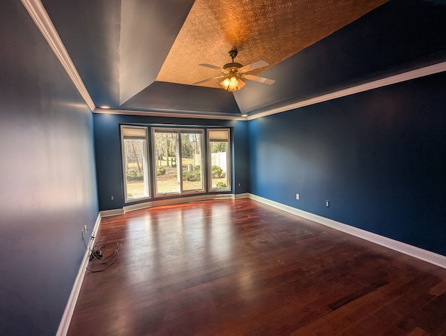
{"label": "entire four-section white-framed window unit in the far wall", "polygon": [[208,129],[206,147],[205,130],[121,125],[125,203],[230,192],[230,130]]}

